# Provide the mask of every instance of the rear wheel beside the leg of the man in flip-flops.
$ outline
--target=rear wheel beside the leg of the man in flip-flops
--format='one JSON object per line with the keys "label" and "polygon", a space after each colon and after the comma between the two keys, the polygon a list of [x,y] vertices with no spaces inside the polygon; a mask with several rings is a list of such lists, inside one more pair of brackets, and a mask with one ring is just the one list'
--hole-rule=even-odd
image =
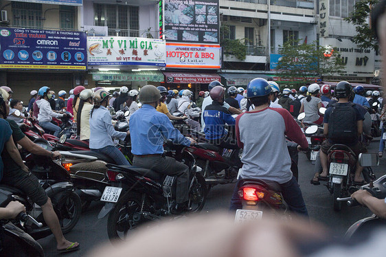
{"label": "rear wheel beside the leg of the man in flip-flops", "polygon": [[67,234],[79,221],[80,214],[82,213],[82,201],[80,201],[80,197],[75,192],[70,192],[63,201],[64,204],[60,208],[60,224],[63,234]]}

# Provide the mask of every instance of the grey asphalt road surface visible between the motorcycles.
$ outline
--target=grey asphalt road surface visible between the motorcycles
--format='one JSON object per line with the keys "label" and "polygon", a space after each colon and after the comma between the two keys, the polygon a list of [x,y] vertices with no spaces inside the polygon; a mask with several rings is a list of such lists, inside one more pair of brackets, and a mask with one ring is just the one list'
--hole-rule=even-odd
{"label": "grey asphalt road surface visible between the motorcycles", "polygon": [[[378,153],[379,140],[373,141],[369,146],[370,153]],[[376,177],[386,173],[386,158],[381,158],[380,166],[373,167]],[[365,216],[370,216],[371,212],[361,206],[348,208],[342,205],[341,212],[334,212],[332,209],[332,196],[328,192],[323,182],[319,186],[310,184],[310,179],[314,175],[314,166],[306,155],[299,153],[299,185],[303,192],[304,200],[308,208],[310,219],[326,225],[334,236],[343,236],[350,225]],[[209,192],[207,202],[203,208],[204,213],[226,211],[229,207],[229,199],[232,194],[234,184],[215,186]],[[78,225],[65,235],[70,241],[78,241],[81,245],[77,252],[65,254],[65,256],[85,256],[87,252],[103,243],[109,243],[107,236],[107,217],[98,220],[98,213],[102,208],[102,203],[94,203],[87,212],[80,217]],[[56,241],[54,236],[47,236],[38,241],[45,250],[46,256],[63,256],[56,252]]]}

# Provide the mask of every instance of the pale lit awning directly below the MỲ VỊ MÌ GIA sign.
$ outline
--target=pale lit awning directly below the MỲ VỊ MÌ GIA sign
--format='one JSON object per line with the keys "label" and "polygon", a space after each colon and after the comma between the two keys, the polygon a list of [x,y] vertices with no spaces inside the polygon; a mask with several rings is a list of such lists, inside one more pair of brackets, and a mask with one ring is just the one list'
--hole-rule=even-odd
{"label": "pale lit awning directly below the M\u1ef2 V\u1eca M\u00cc GIA sign", "polygon": [[90,71],[93,80],[163,82],[160,71]]}

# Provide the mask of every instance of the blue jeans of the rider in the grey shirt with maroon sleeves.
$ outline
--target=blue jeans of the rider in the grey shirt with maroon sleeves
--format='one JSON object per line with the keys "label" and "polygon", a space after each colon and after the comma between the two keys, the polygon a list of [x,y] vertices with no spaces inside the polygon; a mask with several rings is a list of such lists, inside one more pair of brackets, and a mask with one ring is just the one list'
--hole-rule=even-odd
{"label": "blue jeans of the rider in the grey shirt with maroon sleeves", "polygon": [[[241,180],[238,180],[234,188],[234,194],[231,197],[231,205],[229,206],[229,210],[234,212],[238,209],[242,209],[242,203],[238,196],[240,186]],[[293,212],[297,212],[297,214],[308,217],[306,203],[304,203],[302,191],[300,190],[295,177],[292,177],[292,179],[286,183],[280,184],[280,188],[282,190],[284,201],[288,204],[289,209]]]}

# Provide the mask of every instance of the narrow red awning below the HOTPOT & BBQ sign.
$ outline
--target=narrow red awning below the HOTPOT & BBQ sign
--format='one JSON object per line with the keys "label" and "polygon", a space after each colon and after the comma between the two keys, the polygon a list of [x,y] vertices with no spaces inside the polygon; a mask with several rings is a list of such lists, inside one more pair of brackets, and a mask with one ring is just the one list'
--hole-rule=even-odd
{"label": "narrow red awning below the HOTPOT & BBQ sign", "polygon": [[185,72],[163,72],[166,76],[167,83],[193,83],[209,84],[213,80],[220,80],[217,74],[199,74]]}

